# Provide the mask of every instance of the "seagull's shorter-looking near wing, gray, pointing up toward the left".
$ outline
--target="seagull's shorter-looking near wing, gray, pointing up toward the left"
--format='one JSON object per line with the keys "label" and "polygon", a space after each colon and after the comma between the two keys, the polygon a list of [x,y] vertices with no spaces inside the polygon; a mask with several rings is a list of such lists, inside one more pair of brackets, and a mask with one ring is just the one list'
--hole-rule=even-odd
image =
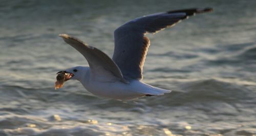
{"label": "seagull's shorter-looking near wing, gray, pointing up toward the left", "polygon": [[90,66],[91,76],[94,79],[101,81],[121,80],[127,83],[118,66],[104,52],[67,34],[60,34],[59,36],[86,58]]}

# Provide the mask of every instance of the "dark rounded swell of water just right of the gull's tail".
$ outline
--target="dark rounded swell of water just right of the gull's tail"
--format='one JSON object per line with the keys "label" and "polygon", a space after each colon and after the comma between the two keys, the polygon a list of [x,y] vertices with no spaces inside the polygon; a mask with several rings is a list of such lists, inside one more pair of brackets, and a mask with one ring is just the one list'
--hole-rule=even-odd
{"label": "dark rounded swell of water just right of the gull's tail", "polygon": [[173,91],[164,96],[152,98],[152,103],[179,106],[187,103],[204,102],[234,103],[252,98],[250,95],[252,90],[244,85],[237,85],[236,83],[228,83],[217,79],[190,81],[180,84],[179,88],[181,91]]}

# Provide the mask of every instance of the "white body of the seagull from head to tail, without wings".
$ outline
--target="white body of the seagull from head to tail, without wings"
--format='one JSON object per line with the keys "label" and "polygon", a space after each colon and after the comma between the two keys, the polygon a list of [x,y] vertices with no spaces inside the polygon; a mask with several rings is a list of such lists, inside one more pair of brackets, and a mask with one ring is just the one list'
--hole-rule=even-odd
{"label": "white body of the seagull from head to tail, without wings", "polygon": [[[72,71],[71,68],[67,70]],[[169,93],[169,90],[156,88],[147,85],[139,80],[131,80],[129,84],[125,84],[119,80],[102,81],[91,77],[89,67],[75,67],[79,73],[75,73],[72,79],[79,80],[84,88],[94,95],[112,98],[112,99],[133,99],[143,97],[145,95],[163,95]],[[99,78],[98,78],[99,79]]]}

